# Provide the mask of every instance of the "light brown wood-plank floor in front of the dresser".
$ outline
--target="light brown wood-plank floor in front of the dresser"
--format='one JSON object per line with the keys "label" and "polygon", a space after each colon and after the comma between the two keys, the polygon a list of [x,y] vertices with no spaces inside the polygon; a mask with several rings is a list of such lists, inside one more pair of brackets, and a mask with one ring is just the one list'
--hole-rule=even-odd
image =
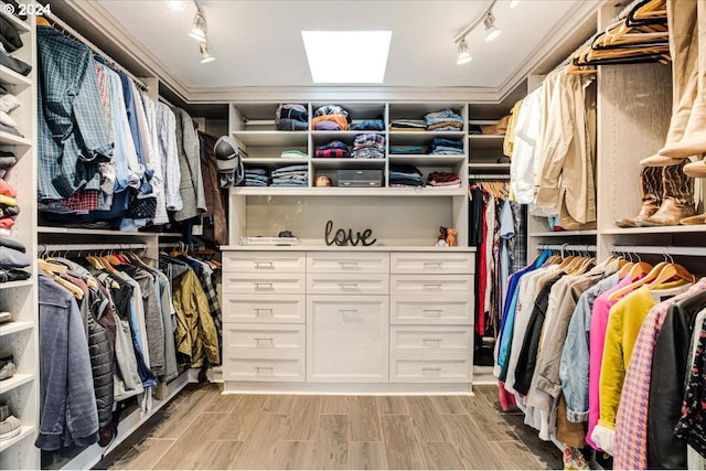
{"label": "light brown wood-plank floor in front of the dresser", "polygon": [[221,395],[190,385],[96,469],[561,469],[495,386],[474,396]]}

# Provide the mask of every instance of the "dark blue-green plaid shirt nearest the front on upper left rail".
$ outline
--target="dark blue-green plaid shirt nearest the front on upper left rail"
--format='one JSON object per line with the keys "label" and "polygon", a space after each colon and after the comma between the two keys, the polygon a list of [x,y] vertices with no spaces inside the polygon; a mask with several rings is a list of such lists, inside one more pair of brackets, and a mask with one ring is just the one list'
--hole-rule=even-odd
{"label": "dark blue-green plaid shirt nearest the front on upper left rail", "polygon": [[53,28],[36,29],[39,196],[60,200],[98,190],[98,163],[113,142],[100,104],[93,54]]}

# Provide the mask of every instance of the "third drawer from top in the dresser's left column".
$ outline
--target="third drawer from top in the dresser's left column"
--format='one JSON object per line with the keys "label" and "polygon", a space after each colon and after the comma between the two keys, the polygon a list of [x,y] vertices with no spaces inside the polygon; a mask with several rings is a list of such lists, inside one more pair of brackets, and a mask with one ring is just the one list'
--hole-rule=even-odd
{"label": "third drawer from top in the dresser's left column", "polygon": [[223,322],[304,323],[304,295],[223,295]]}

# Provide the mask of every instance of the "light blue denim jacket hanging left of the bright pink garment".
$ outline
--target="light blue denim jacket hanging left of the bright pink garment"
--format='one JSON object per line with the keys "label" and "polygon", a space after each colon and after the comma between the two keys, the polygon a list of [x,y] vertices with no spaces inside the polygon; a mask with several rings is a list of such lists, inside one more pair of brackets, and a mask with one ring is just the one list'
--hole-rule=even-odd
{"label": "light blue denim jacket hanging left of the bright pink garment", "polygon": [[591,310],[598,296],[620,281],[613,274],[600,280],[581,295],[571,315],[569,330],[561,351],[559,379],[566,398],[566,417],[569,421],[588,420],[588,333],[591,325]]}

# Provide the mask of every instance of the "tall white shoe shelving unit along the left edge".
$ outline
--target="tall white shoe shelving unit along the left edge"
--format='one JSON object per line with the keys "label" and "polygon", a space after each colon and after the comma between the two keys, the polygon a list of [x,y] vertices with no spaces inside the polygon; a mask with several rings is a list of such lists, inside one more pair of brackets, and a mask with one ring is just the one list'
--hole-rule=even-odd
{"label": "tall white shoe shelving unit along the left edge", "polygon": [[[23,76],[0,65],[0,84],[15,95],[21,105],[11,113],[18,130],[24,137],[0,131],[0,149],[15,154],[18,163],[4,175],[18,191],[20,214],[11,229],[10,238],[22,243],[30,259],[36,250],[36,52],[35,22],[30,15],[25,21],[0,13],[20,33],[23,46],[12,56],[32,65],[32,72]],[[0,381],[0,404],[7,405],[11,415],[22,421],[20,435],[0,440],[1,469],[39,469],[40,453],[34,447],[39,430],[39,325],[38,286],[33,266],[28,280],[0,282],[0,311],[9,311],[12,320],[0,323],[0,356],[13,355],[17,373]]]}

